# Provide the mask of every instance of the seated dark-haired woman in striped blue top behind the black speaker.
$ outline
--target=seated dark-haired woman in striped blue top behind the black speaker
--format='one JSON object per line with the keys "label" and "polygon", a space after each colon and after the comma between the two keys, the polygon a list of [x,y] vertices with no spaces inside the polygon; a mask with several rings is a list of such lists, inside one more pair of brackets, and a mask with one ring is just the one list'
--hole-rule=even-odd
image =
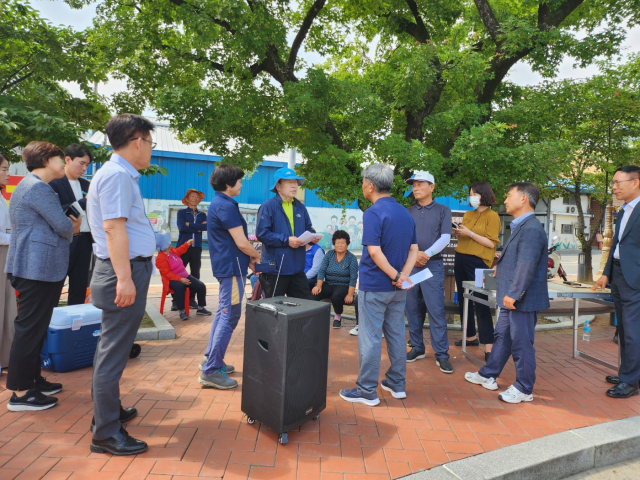
{"label": "seated dark-haired woman in striped blue top behind the black speaker", "polygon": [[347,232],[336,230],[331,241],[334,250],[329,250],[322,259],[318,270],[318,283],[311,291],[311,300],[331,298],[336,314],[333,328],[340,328],[344,304],[353,303],[358,281],[358,259],[347,251],[351,241]]}

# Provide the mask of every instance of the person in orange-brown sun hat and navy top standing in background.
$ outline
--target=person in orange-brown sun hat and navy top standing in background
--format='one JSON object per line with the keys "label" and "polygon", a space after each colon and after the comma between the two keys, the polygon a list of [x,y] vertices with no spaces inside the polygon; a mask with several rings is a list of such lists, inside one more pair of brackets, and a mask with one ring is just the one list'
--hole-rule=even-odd
{"label": "person in orange-brown sun hat and navy top standing in background", "polygon": [[[180,235],[178,236],[178,243],[176,248],[180,245],[187,243],[189,240],[193,240],[193,245],[189,247],[180,258],[184,263],[185,268],[187,265],[191,267],[191,275],[200,280],[200,267],[202,265],[202,232],[207,229],[207,213],[198,210],[198,205],[204,199],[204,193],[199,192],[194,188],[187,190],[182,203],[187,206],[182,210],[178,210],[178,230]],[[191,292],[190,307],[197,308],[196,292]],[[171,306],[171,310],[177,310],[175,302]]]}

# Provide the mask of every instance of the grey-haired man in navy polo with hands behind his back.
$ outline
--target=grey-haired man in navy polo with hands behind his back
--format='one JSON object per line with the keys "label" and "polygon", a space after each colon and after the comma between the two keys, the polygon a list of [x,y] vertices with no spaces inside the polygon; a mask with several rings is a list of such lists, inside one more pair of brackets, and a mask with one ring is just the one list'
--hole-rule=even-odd
{"label": "grey-haired man in navy polo with hands behind his back", "polygon": [[356,387],[341,390],[347,402],[374,406],[380,403],[376,389],[380,373],[382,334],[387,340],[391,365],[382,388],[393,398],[406,398],[407,350],[404,308],[407,291],[402,282],[418,257],[416,227],[407,210],[393,199],[393,170],[374,164],[362,172],[362,193],[373,205],[363,215],[360,290],[358,292],[358,351],[360,372]]}

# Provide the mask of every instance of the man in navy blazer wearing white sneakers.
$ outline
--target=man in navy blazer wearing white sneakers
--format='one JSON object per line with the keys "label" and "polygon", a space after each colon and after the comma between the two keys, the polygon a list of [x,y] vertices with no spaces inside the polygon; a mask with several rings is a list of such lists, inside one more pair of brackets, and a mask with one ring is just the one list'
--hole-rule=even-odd
{"label": "man in navy blazer wearing white sneakers", "polygon": [[496,324],[493,350],[479,372],[464,378],[496,390],[496,378],[510,356],[516,365],[516,381],[498,398],[507,403],[531,402],[536,381],[535,327],[540,310],[549,308],[547,289],[547,235],[533,211],[540,190],[532,183],[514,183],[504,204],[512,215],[511,236],[496,266],[496,302],[500,316]]}

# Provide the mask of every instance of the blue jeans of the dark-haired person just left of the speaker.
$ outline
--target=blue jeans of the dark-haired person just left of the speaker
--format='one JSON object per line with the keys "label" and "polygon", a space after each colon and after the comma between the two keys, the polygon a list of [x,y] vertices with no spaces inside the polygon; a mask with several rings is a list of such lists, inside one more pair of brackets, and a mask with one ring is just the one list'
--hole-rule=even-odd
{"label": "blue jeans of the dark-haired person just left of the speaker", "polygon": [[224,355],[231,340],[231,335],[238,326],[242,315],[242,297],[246,277],[218,278],[220,293],[218,294],[218,310],[211,324],[209,346],[207,347],[207,363],[202,373],[213,373],[224,367]]}

